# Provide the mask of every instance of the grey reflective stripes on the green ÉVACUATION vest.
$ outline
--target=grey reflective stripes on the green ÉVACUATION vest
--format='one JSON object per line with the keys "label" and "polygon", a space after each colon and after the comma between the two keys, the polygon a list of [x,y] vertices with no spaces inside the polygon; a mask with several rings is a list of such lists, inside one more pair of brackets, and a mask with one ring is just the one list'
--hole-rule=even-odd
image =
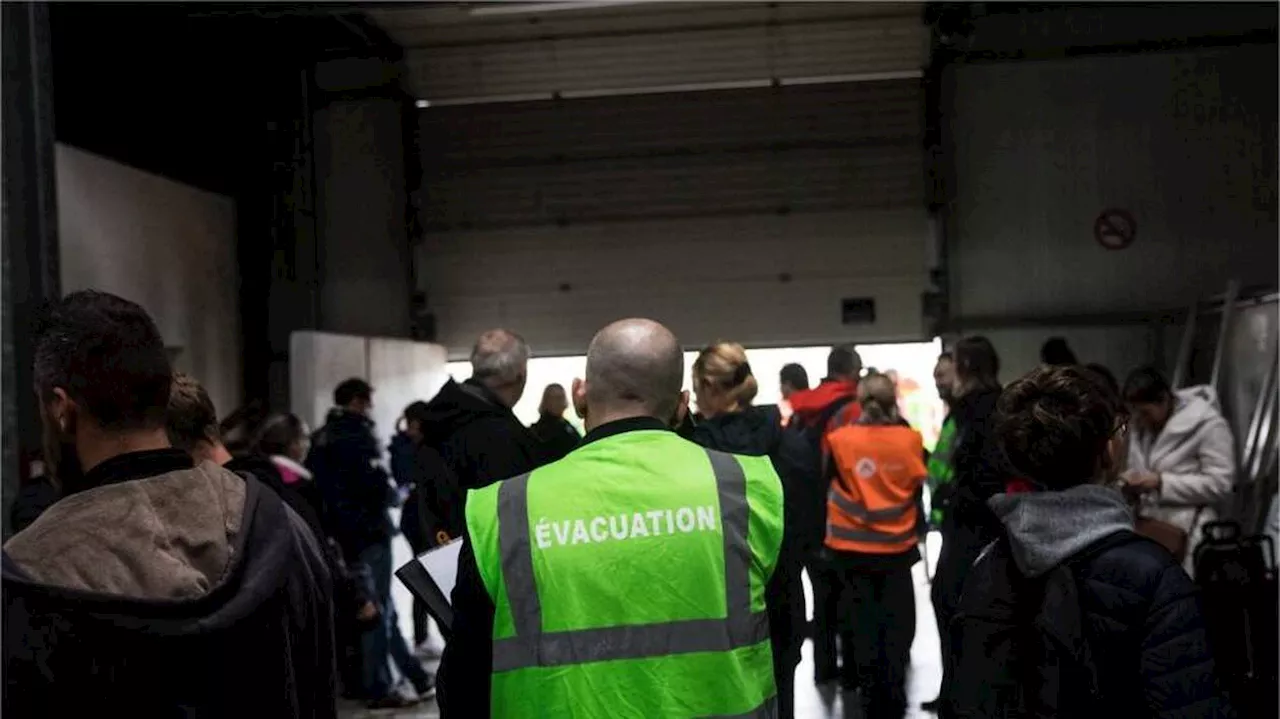
{"label": "grey reflective stripes on the green \u00c9VACUATION vest", "polygon": [[[750,509],[746,476],[731,454],[707,450],[716,473],[724,536],[723,619],[687,619],[653,624],[543,632],[543,609],[534,574],[529,527],[529,475],[498,489],[498,544],[502,576],[515,636],[494,640],[493,670],[563,667],[616,659],[644,659],[689,652],[724,652],[769,638],[768,614],[751,610]],[[742,716],[774,716],[776,704]]]}

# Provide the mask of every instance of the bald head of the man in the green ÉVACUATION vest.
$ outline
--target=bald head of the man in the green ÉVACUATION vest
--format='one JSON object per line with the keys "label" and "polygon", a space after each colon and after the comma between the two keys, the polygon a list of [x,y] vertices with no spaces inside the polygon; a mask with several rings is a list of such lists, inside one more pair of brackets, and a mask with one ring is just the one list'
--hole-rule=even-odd
{"label": "bald head of the man in the green \u00c9VACUATION vest", "polygon": [[586,406],[594,417],[675,417],[685,356],[680,342],[653,320],[621,320],[600,330],[586,351]]}

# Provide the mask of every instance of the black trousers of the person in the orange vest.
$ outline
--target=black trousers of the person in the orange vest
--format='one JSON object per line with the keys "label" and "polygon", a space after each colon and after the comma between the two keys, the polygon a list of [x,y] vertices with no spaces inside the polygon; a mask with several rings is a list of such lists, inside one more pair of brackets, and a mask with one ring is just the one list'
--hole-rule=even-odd
{"label": "black trousers of the person in the orange vest", "polygon": [[906,713],[906,670],[915,641],[911,569],[842,568],[840,582],[845,619],[841,635],[850,641],[841,683],[861,688],[868,719],[901,719]]}

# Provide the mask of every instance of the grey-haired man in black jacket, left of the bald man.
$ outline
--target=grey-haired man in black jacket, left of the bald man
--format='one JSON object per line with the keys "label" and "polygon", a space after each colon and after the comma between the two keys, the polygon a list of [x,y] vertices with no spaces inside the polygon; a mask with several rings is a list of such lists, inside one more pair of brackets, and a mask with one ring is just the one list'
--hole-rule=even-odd
{"label": "grey-haired man in black jacket, left of the bald man", "polygon": [[541,445],[511,408],[525,394],[529,343],[494,329],[471,348],[471,379],[449,380],[426,403],[413,499],[422,503],[425,535],[462,533],[467,490],[529,472],[541,463]]}

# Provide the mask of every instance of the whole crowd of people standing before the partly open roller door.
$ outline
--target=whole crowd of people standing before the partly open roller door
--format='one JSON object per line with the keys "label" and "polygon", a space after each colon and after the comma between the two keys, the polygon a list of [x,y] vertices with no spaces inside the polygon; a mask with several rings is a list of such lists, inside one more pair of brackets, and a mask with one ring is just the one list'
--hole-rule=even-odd
{"label": "whole crowd of people standing before the partly open roller door", "polygon": [[[969,336],[937,361],[948,412],[925,452],[854,345],[813,388],[783,367],[785,412],[755,404],[742,345],[698,354],[691,398],[680,340],[623,320],[532,427],[512,412],[529,360],[485,333],[471,377],[408,404],[389,448],[358,377],[315,432],[228,426],[145,311],[68,296],[38,328],[47,478],[3,553],[4,709],[334,716],[340,693],[438,693],[460,718],[786,718],[812,638],[813,681],[900,718],[933,528],[925,709],[1230,715],[1189,576],[1234,477],[1210,388],[1121,385],[1059,339],[1002,386]],[[426,604],[411,642],[392,601],[398,532],[417,553],[465,540],[438,678]]]}

